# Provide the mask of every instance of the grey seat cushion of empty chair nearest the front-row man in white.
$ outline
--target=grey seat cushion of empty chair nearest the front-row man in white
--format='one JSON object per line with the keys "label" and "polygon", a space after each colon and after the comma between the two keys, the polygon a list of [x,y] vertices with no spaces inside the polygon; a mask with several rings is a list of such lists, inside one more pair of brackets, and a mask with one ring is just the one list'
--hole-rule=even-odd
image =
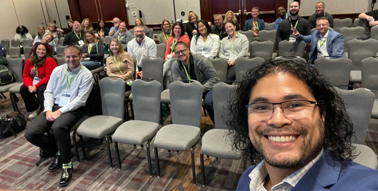
{"label": "grey seat cushion of empty chair nearest the front-row man in white", "polygon": [[122,119],[112,116],[93,116],[86,119],[76,130],[78,135],[101,139],[110,134],[122,124]]}

